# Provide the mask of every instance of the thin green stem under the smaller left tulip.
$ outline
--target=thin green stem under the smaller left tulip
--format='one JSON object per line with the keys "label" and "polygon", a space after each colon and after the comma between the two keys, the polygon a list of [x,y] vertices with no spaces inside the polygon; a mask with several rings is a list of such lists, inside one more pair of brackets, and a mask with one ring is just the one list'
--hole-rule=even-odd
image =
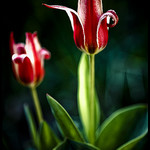
{"label": "thin green stem under the smaller left tulip", "polygon": [[41,107],[40,107],[40,103],[39,103],[39,99],[35,87],[31,87],[31,93],[34,101],[34,106],[36,109],[37,118],[40,124],[43,121],[43,115],[42,115],[42,111],[41,111]]}

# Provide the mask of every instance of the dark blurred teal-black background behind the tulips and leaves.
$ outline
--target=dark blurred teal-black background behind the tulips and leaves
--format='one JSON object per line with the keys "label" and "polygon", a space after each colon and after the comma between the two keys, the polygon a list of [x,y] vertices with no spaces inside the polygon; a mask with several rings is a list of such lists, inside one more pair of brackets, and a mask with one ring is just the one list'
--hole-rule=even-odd
{"label": "dark blurred teal-black background behind the tulips and leaves", "polygon": [[[14,78],[9,52],[9,35],[16,43],[25,42],[25,32],[38,32],[42,47],[51,52],[45,61],[45,78],[37,88],[44,118],[53,128],[54,118],[46,93],[57,99],[76,118],[77,67],[81,56],[73,40],[70,20],[65,12],[49,9],[42,3],[77,9],[78,0],[9,1],[2,12],[1,47],[1,133],[4,149],[24,150],[30,135],[23,105],[35,116],[30,90]],[[114,9],[118,24],[109,30],[108,45],[96,55],[96,90],[102,109],[101,122],[116,109],[148,100],[148,20],[145,2],[103,0],[103,10]],[[36,118],[36,116],[35,116]],[[78,118],[77,118],[78,119]]]}

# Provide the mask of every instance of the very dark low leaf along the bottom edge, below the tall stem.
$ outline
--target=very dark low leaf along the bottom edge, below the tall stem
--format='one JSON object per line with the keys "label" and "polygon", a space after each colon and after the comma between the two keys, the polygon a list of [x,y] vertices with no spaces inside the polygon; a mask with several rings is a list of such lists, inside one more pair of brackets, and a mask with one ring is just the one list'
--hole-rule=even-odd
{"label": "very dark low leaf along the bottom edge, below the tall stem", "polygon": [[53,150],[100,150],[100,149],[88,143],[80,143],[69,139],[65,139]]}

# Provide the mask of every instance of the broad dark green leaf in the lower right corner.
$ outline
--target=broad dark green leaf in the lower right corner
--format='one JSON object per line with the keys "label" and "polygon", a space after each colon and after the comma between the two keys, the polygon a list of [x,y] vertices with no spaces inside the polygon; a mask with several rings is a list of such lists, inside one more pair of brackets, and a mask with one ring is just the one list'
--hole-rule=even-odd
{"label": "broad dark green leaf in the lower right corner", "polygon": [[101,125],[96,146],[102,150],[130,150],[147,131],[147,106],[139,104],[126,107],[114,112]]}

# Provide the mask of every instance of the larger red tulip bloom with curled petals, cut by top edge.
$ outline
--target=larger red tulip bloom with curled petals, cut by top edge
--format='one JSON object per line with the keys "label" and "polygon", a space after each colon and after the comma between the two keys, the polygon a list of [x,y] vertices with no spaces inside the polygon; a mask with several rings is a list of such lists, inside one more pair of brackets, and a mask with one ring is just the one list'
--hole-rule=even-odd
{"label": "larger red tulip bloom with curled petals, cut by top edge", "polygon": [[[108,42],[108,28],[114,27],[118,16],[114,10],[103,13],[102,0],[78,0],[77,12],[59,5],[47,5],[48,8],[65,10],[68,14],[76,46],[87,54],[97,54]],[[107,22],[112,18],[113,24]]]}

